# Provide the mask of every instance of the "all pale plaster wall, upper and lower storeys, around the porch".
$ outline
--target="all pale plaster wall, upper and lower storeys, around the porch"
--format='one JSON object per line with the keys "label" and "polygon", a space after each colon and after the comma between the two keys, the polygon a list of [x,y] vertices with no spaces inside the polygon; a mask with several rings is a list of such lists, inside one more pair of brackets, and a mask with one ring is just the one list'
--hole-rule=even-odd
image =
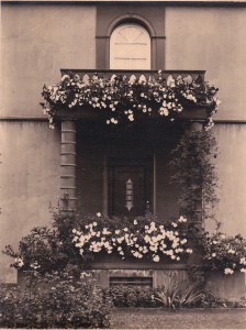
{"label": "all pale plaster wall, upper and lower storeys, around the porch", "polygon": [[[246,120],[245,16],[245,9],[235,8],[166,9],[166,68],[206,69],[206,80],[220,88],[220,119]],[[1,24],[2,117],[43,118],[43,84],[58,81],[60,68],[96,68],[92,6],[2,6]],[[60,151],[59,130],[49,130],[47,122],[1,127],[0,250],[16,246],[34,224],[51,221],[49,202],[56,205],[59,196]],[[217,219],[226,232],[246,234],[246,127],[216,124],[214,134],[221,151]],[[2,271],[4,256],[0,263],[0,282],[13,280],[14,273]]]}

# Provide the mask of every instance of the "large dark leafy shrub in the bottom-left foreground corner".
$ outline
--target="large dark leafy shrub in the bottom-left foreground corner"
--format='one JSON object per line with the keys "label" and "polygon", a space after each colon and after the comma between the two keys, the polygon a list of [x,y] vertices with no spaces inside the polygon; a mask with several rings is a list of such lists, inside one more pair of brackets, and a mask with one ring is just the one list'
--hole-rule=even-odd
{"label": "large dark leafy shrub in the bottom-left foreground corner", "polygon": [[1,286],[1,327],[105,328],[110,304],[92,279],[76,279],[70,272],[45,276],[29,272],[24,289]]}

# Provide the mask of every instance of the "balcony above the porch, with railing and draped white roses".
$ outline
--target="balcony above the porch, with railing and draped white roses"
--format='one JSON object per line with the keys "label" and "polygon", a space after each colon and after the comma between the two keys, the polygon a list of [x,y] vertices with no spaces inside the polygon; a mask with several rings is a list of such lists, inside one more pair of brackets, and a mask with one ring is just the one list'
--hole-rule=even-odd
{"label": "balcony above the porch, with railing and draped white roses", "polygon": [[[169,116],[178,121],[208,121],[216,110],[216,89],[206,85],[204,70],[60,69],[60,73],[68,84],[62,79],[56,87],[53,86],[56,91],[45,91],[49,114],[58,120],[105,121],[108,118],[109,123],[113,116],[124,117],[125,112],[133,110],[141,119]],[[150,113],[146,109],[150,109]],[[126,113],[125,117],[131,120],[131,116]]]}

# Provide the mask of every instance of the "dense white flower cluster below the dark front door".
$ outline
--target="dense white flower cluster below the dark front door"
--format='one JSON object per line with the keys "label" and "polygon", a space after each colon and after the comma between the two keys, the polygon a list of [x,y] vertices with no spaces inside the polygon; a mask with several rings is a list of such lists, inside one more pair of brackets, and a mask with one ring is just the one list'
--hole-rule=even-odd
{"label": "dense white flower cluster below the dark front door", "polygon": [[154,221],[141,230],[138,222],[136,219],[133,222],[136,226],[134,232],[128,228],[109,230],[104,227],[99,230],[98,223],[93,222],[85,226],[82,231],[74,229],[72,242],[83,256],[87,251],[98,253],[104,249],[109,254],[116,251],[122,258],[125,258],[127,253],[137,258],[150,254],[152,260],[158,262],[160,255],[180,261],[182,254],[192,253],[192,250],[187,248],[187,239],[178,232],[181,223],[187,222],[186,218],[180,217],[174,221],[174,230],[166,230],[164,226],[157,226]]}

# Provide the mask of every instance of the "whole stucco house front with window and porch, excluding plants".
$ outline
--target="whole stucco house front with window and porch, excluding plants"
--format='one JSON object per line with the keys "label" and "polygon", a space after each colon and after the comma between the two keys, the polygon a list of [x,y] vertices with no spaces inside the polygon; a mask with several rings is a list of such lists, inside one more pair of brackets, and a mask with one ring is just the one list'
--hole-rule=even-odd
{"label": "whole stucco house front with window and porch, excluding plants", "polygon": [[[48,226],[49,207],[64,196],[68,211],[79,205],[85,215],[142,216],[146,202],[160,217],[178,215],[170,152],[186,130],[203,125],[206,111],[112,130],[83,109],[62,113],[49,129],[42,87],[69,73],[148,79],[161,69],[167,78],[219,87],[216,218],[226,233],[246,234],[244,6],[2,1],[1,11],[1,250],[16,246],[34,226]],[[213,230],[210,221],[204,227]],[[9,263],[2,255],[1,282],[16,280]]]}

